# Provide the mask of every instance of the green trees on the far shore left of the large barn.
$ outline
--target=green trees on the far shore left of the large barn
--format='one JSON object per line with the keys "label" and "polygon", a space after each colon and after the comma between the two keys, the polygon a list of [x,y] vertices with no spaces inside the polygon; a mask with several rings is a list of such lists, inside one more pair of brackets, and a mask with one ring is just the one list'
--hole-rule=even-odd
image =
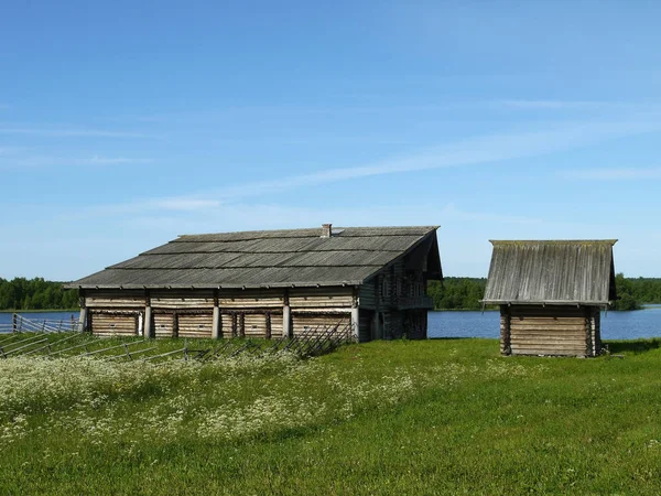
{"label": "green trees on the far shore left of the large barn", "polygon": [[0,310],[69,310],[77,309],[78,292],[65,291],[62,282],[43,278],[0,278]]}

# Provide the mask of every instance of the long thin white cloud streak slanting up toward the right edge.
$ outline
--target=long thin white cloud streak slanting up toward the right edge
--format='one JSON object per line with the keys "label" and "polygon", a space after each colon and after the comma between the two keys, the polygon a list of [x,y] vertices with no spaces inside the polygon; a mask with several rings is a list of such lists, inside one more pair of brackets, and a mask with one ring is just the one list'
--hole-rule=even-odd
{"label": "long thin white cloud streak slanting up toward the right edge", "polygon": [[[258,181],[221,190],[195,192],[176,197],[155,197],[144,202],[100,205],[98,212],[120,214],[136,212],[191,212],[220,208],[241,198],[292,191],[361,177],[419,172],[470,165],[502,164],[508,160],[557,153],[588,147],[615,138],[661,130],[658,122],[588,122],[542,131],[491,134],[419,151],[356,168],[321,170],[310,174]],[[509,222],[534,223],[537,219],[510,218]]]}

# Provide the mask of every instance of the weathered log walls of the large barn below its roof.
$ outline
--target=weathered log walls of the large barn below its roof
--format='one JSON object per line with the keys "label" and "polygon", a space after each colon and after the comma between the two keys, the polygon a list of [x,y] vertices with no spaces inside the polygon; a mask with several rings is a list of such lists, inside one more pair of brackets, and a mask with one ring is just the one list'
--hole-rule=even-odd
{"label": "weathered log walls of the large barn below its roof", "polygon": [[[150,309],[151,325],[148,328],[142,324],[150,331],[149,337],[212,337],[215,308],[219,313],[219,337],[281,337],[288,303],[293,335],[305,328],[349,324],[354,311],[359,316],[361,342],[377,335],[398,338],[405,332],[411,336],[426,336],[426,311],[423,332],[420,316],[405,317],[405,312],[397,309],[398,296],[407,291],[404,280],[409,272],[403,262],[395,262],[358,289],[86,290],[84,305],[90,312],[132,312],[132,315],[144,315]],[[98,335],[141,334],[143,328],[132,321],[119,325],[119,321],[95,321],[90,316],[89,322],[90,331]],[[409,324],[412,328],[404,330],[403,325]]]}

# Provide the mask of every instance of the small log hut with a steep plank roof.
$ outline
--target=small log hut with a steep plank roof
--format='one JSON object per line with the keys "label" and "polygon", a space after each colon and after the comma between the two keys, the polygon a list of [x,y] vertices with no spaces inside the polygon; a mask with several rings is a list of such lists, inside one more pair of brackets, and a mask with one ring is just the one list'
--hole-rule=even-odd
{"label": "small log hut with a steep plank roof", "polygon": [[491,241],[485,304],[500,306],[502,355],[595,356],[615,299],[607,240]]}

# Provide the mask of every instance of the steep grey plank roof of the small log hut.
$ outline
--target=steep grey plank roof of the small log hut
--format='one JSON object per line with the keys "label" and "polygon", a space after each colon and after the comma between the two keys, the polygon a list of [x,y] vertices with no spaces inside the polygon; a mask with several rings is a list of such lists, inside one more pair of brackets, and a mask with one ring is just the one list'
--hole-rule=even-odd
{"label": "steep grey plank roof of the small log hut", "polygon": [[485,303],[595,304],[616,299],[617,239],[491,241]]}

